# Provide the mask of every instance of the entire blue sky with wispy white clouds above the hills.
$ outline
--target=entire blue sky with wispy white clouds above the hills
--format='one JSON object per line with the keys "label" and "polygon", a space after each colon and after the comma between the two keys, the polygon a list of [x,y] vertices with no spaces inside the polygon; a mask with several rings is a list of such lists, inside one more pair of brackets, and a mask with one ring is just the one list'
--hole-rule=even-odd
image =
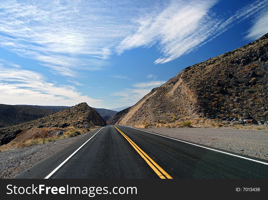
{"label": "entire blue sky with wispy white clouds above the hills", "polygon": [[133,105],[268,32],[268,0],[0,1],[0,103]]}

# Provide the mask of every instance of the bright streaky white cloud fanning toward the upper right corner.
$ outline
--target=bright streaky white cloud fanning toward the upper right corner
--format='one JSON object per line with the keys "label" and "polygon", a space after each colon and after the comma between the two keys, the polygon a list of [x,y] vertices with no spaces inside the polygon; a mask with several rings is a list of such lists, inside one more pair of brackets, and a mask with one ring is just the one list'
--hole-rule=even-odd
{"label": "bright streaky white cloud fanning toward the upper right corner", "polygon": [[163,64],[187,54],[217,37],[235,23],[265,9],[267,0],[255,1],[228,19],[211,12],[218,1],[172,1],[159,13],[143,16],[137,30],[118,45],[119,54],[136,47],[157,44],[162,56],[154,61]]}

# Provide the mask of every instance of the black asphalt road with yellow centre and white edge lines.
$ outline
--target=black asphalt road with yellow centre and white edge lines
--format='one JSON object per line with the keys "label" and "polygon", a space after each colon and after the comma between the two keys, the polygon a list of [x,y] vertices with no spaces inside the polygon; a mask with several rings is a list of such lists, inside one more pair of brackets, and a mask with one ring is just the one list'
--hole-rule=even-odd
{"label": "black asphalt road with yellow centre and white edge lines", "polygon": [[268,178],[267,163],[122,125],[108,125],[14,178]]}

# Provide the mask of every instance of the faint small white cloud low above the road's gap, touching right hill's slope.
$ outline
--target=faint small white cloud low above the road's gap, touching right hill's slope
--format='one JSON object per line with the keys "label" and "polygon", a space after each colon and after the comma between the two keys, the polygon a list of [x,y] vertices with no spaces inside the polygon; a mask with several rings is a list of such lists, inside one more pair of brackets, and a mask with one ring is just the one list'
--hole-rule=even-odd
{"label": "faint small white cloud low above the road's gap, touching right hill's slope", "polygon": [[161,86],[165,82],[166,81],[138,82],[132,84],[132,88],[125,88],[122,91],[112,93],[111,95],[118,96],[119,102],[134,105],[153,88]]}

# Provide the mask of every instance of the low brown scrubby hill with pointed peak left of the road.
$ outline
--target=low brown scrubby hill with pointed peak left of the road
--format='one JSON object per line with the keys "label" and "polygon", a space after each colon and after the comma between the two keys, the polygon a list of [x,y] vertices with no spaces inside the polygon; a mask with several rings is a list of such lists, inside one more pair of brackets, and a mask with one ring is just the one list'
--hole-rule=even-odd
{"label": "low brown scrubby hill with pointed peak left of the road", "polygon": [[86,128],[104,126],[106,122],[95,109],[80,103],[63,111],[29,121],[23,124],[0,128],[0,145],[10,142],[16,136],[24,139],[62,134],[65,128]]}

